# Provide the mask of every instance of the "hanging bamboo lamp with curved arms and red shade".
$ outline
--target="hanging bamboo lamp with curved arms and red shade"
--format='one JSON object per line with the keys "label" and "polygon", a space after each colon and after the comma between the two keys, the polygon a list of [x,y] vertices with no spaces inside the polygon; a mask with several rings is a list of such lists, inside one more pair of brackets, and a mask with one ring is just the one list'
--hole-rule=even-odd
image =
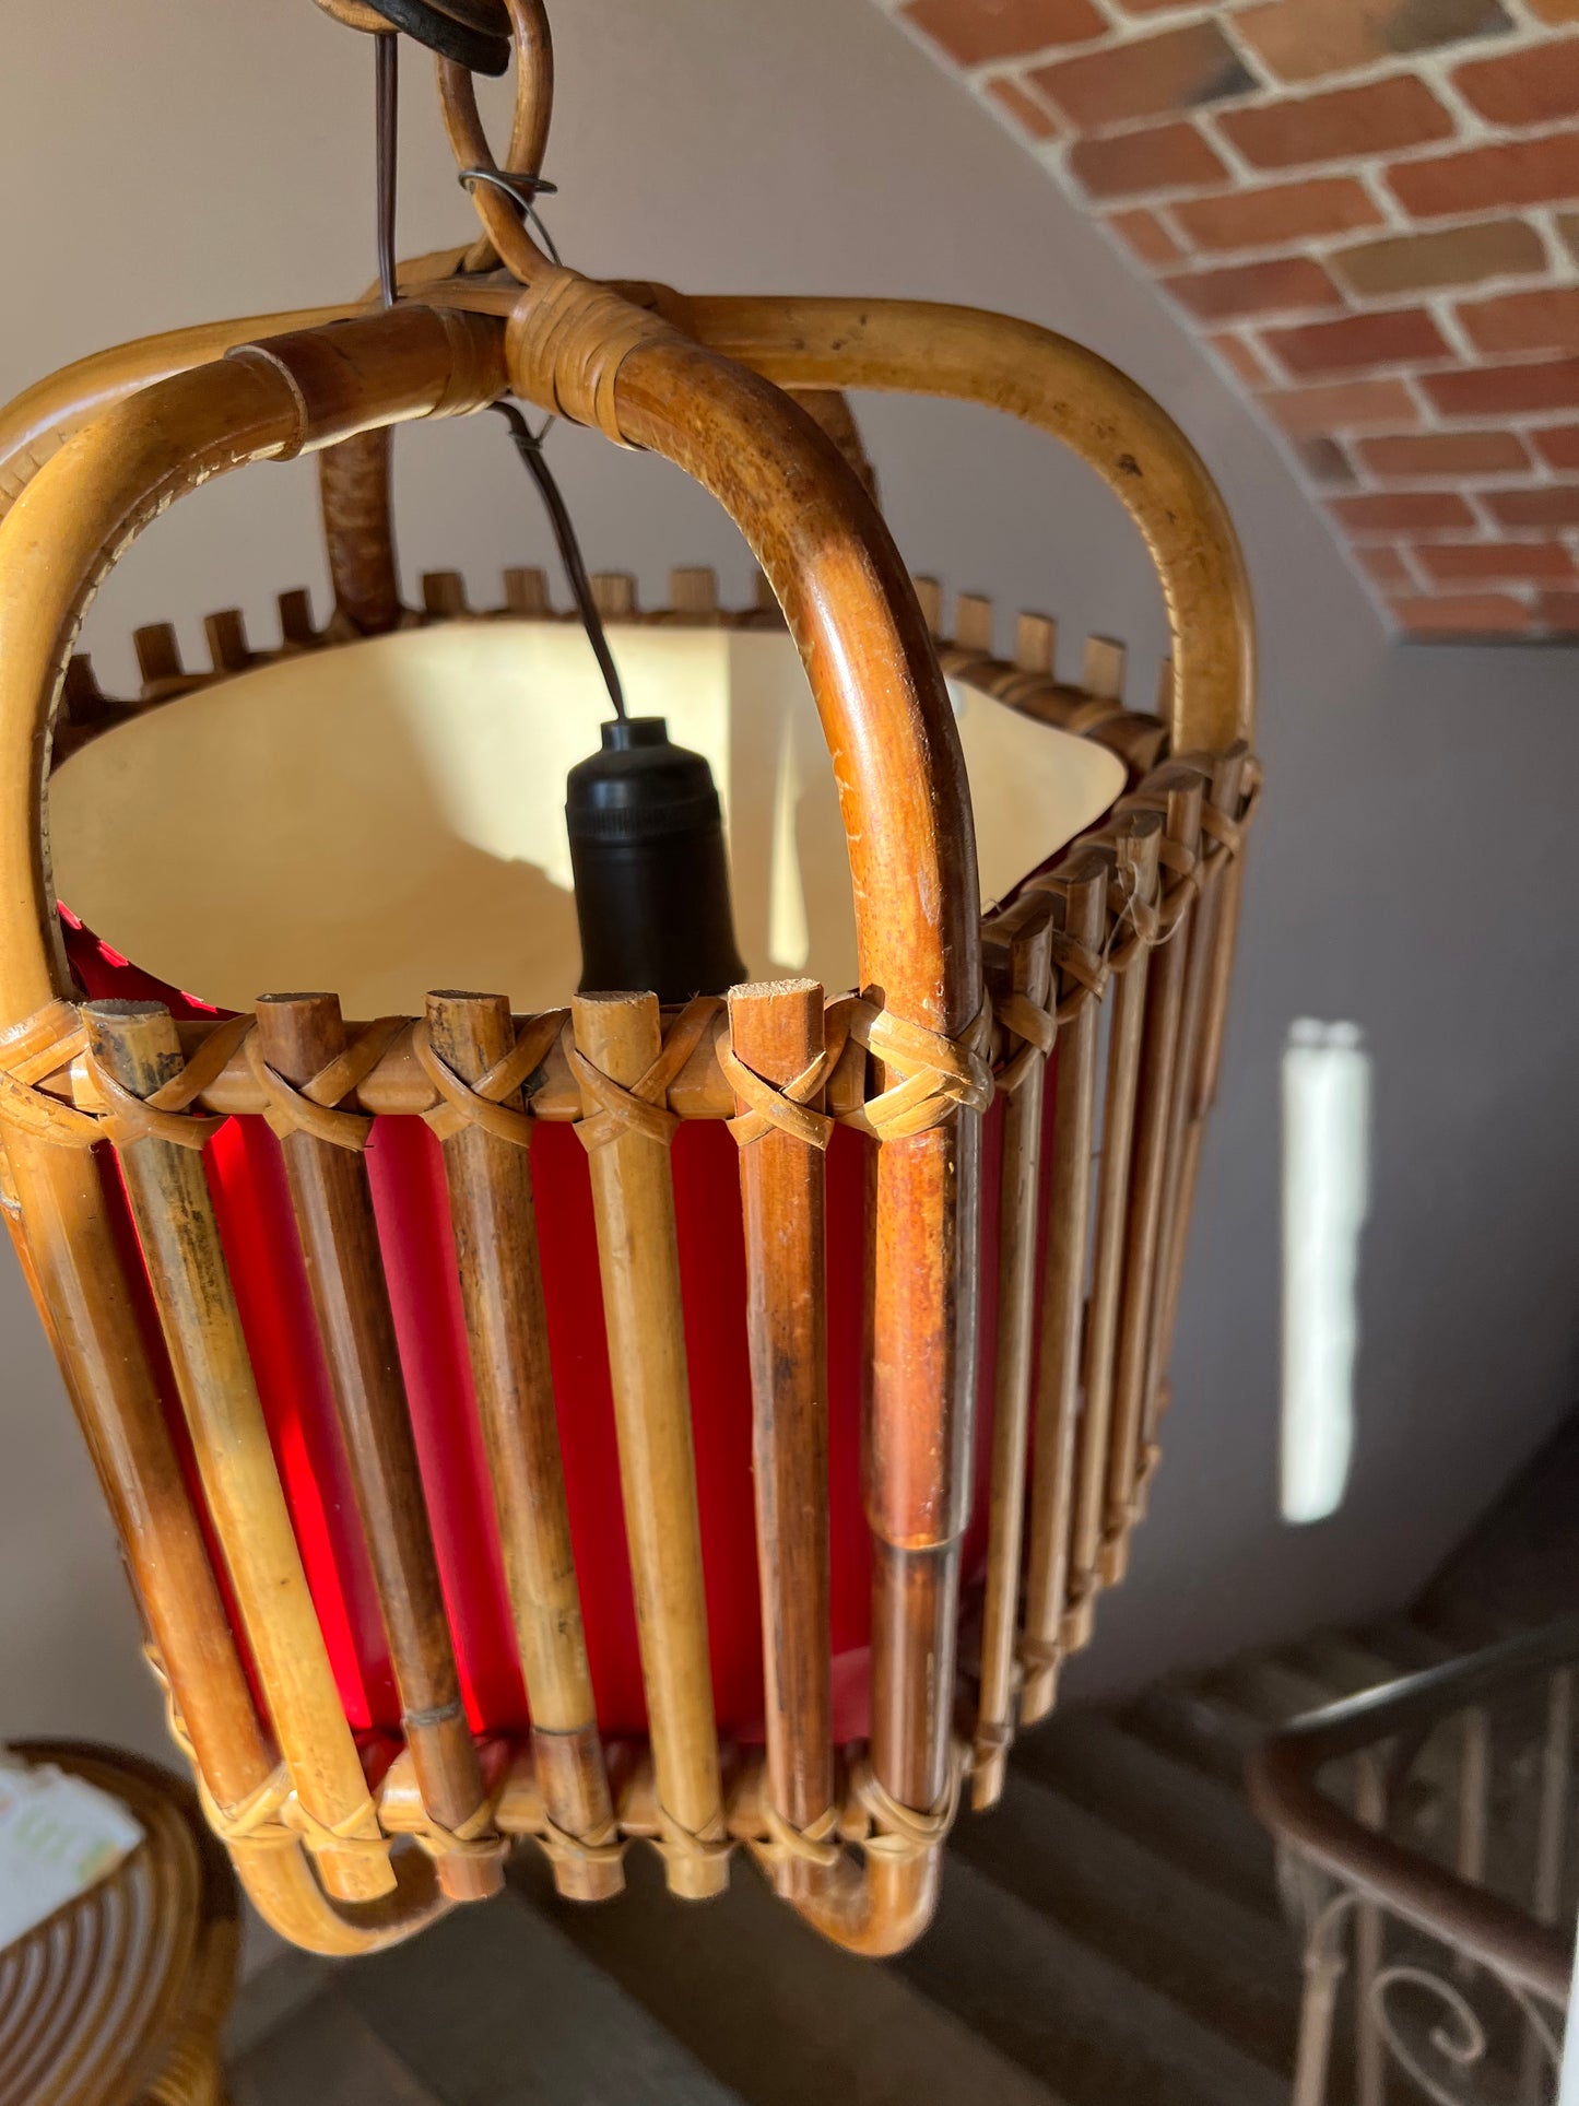
{"label": "hanging bamboo lamp with curved arms and red shade", "polygon": [[[528,51],[535,13],[512,15]],[[476,168],[469,74],[440,72]],[[522,93],[531,175],[541,80]],[[497,192],[476,202],[507,272],[425,257],[394,310],[149,339],[0,417],[6,1219],[173,1733],[286,1938],[404,1938],[495,1891],[522,1836],[596,1900],[648,1839],[678,1895],[720,1891],[745,1845],[830,1938],[895,1952],[935,1906],[962,1782],[992,1805],[1015,1721],[1088,1641],[1156,1464],[1257,788],[1240,556],[1171,421],[1061,337],[592,284]],[[1103,474],[1166,594],[1162,716],[1122,708],[1112,647],[1061,684],[1038,617],[1015,663],[985,602],[935,642],[844,388],[987,402]],[[82,897],[88,927],[61,920],[51,741],[61,809],[86,815],[63,868],[128,899],[152,849],[198,920],[179,807],[139,804],[137,857],[91,840],[116,754],[152,769],[175,712],[309,727],[288,697],[314,668],[387,689],[429,651],[442,682],[482,640],[562,634],[533,573],[497,617],[446,579],[400,604],[389,428],[505,392],[665,455],[745,535],[768,607],[720,617],[682,573],[627,634],[787,653],[787,623],[840,792],[859,994],[756,981],[663,1013],[549,992],[518,1015],[505,988],[345,1024],[337,996],[253,1007],[251,981],[227,1015],[109,950]],[[328,628],[286,596],[280,649],[255,653],[219,615],[213,674],[145,632],[143,695],[105,697],[72,653],[112,562],[208,476],[303,451]],[[602,596],[638,619],[617,581]],[[1055,756],[1091,741],[1088,788],[1112,777],[1076,819],[1095,830],[1051,828],[985,916],[945,676],[966,718]]]}

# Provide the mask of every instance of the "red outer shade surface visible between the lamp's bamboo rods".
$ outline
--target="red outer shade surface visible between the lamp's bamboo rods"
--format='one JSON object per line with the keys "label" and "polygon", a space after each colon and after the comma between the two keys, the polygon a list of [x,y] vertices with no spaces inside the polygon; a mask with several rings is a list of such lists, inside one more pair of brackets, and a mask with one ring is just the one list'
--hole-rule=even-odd
{"label": "red outer shade surface visible between the lamp's bamboo rods", "polygon": [[[88,996],[162,1000],[177,1017],[217,1015],[204,1002],[141,973],[65,910],[61,918],[72,971]],[[1048,1089],[1048,1118],[1051,1099]],[[861,1502],[861,1386],[865,1158],[872,1146],[855,1133],[838,1131],[827,1152],[827,1499],[834,1731],[840,1742],[863,1737],[870,1723],[872,1548]],[[983,1344],[966,1577],[979,1575],[985,1556],[1000,1150],[1002,1114],[994,1108],[983,1137]],[[587,1158],[571,1127],[549,1122],[535,1129],[531,1154],[547,1346],[598,1721],[606,1733],[640,1733],[646,1727],[646,1702],[619,1495]],[[1051,1146],[1044,1148],[1042,1224],[1048,1156]],[[211,1141],[204,1163],[335,1681],[349,1723],[360,1733],[383,1740],[398,1733],[400,1702],[318,1344],[280,1144],[261,1118],[232,1118]],[[520,1733],[528,1723],[526,1691],[472,1392],[440,1148],[419,1118],[379,1118],[366,1165],[467,1714],[480,1733]],[[107,1181],[118,1184],[114,1169]],[[126,1249],[135,1251],[124,1198],[118,1192],[114,1196]],[[722,1122],[693,1120],[680,1129],[674,1144],[674,1200],[714,1702],[720,1731],[754,1742],[762,1737],[762,1605],[752,1502],[745,1245],[739,1152]],[[143,1299],[166,1415],[202,1508],[168,1358],[152,1302]],[[219,1558],[215,1567],[221,1571]]]}

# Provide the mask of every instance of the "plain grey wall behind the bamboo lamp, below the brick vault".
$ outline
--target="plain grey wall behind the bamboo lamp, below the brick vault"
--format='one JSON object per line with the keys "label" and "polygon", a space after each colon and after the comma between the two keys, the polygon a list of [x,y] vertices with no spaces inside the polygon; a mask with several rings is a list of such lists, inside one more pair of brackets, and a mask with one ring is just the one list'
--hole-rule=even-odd
{"label": "plain grey wall behind the bamboo lamp, below the brick vault", "polygon": [[[13,8],[0,131],[11,307],[0,392],[105,341],[335,299],[371,276],[366,44],[307,0],[122,0],[93,44]],[[1575,1390],[1568,1203],[1579,979],[1564,826],[1575,657],[1404,651],[1379,630],[1276,446],[1051,181],[874,8],[851,0],[566,0],[554,230],[589,272],[718,291],[870,291],[1006,307],[1128,366],[1221,478],[1263,636],[1257,836],[1223,1106],[1175,1367],[1177,1409],[1126,1590],[1084,1685],[1404,1596]],[[465,236],[406,67],[402,246]],[[1145,703],[1162,615],[1139,541],[1082,470],[985,413],[863,404],[918,571],[1128,638]],[[564,432],[594,564],[661,596],[672,560],[739,543],[667,468]],[[488,419],[400,440],[413,573],[543,560]],[[162,520],[91,621],[107,676],[135,621],[322,569],[303,468],[255,470]],[[1335,1521],[1276,1510],[1278,1053],[1293,1015],[1375,1051],[1375,1203],[1354,1483]],[[0,1270],[0,1731],[158,1746],[135,1626],[59,1384]]]}

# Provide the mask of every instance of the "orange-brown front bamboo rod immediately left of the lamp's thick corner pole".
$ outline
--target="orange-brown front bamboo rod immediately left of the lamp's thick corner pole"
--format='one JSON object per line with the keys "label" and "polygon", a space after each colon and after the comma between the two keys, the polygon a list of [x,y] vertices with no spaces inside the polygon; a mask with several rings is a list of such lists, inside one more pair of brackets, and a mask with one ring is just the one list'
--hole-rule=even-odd
{"label": "orange-brown front bamboo rod immediately left of the lamp's thick corner pole", "polygon": [[[821,1057],[823,990],[815,979],[733,988],[728,1028],[737,1061],[783,1089]],[[821,1110],[821,1085],[802,1101]],[[747,1097],[737,1104],[749,1112]],[[817,1146],[777,1127],[743,1139],[768,1794],[802,1832],[834,1803],[823,1200]],[[785,1857],[779,1891],[804,1900],[813,1872],[804,1857]]]}

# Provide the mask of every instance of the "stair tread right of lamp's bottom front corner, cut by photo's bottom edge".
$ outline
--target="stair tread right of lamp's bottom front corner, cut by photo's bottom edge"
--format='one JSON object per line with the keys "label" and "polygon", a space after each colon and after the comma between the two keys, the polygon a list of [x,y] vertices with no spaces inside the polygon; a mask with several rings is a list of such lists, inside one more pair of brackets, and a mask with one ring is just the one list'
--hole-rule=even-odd
{"label": "stair tread right of lamp's bottom front corner, cut by photo's bottom edge", "polygon": [[1284,2106],[1286,2074],[958,1857],[912,1982],[1082,2106]]}

